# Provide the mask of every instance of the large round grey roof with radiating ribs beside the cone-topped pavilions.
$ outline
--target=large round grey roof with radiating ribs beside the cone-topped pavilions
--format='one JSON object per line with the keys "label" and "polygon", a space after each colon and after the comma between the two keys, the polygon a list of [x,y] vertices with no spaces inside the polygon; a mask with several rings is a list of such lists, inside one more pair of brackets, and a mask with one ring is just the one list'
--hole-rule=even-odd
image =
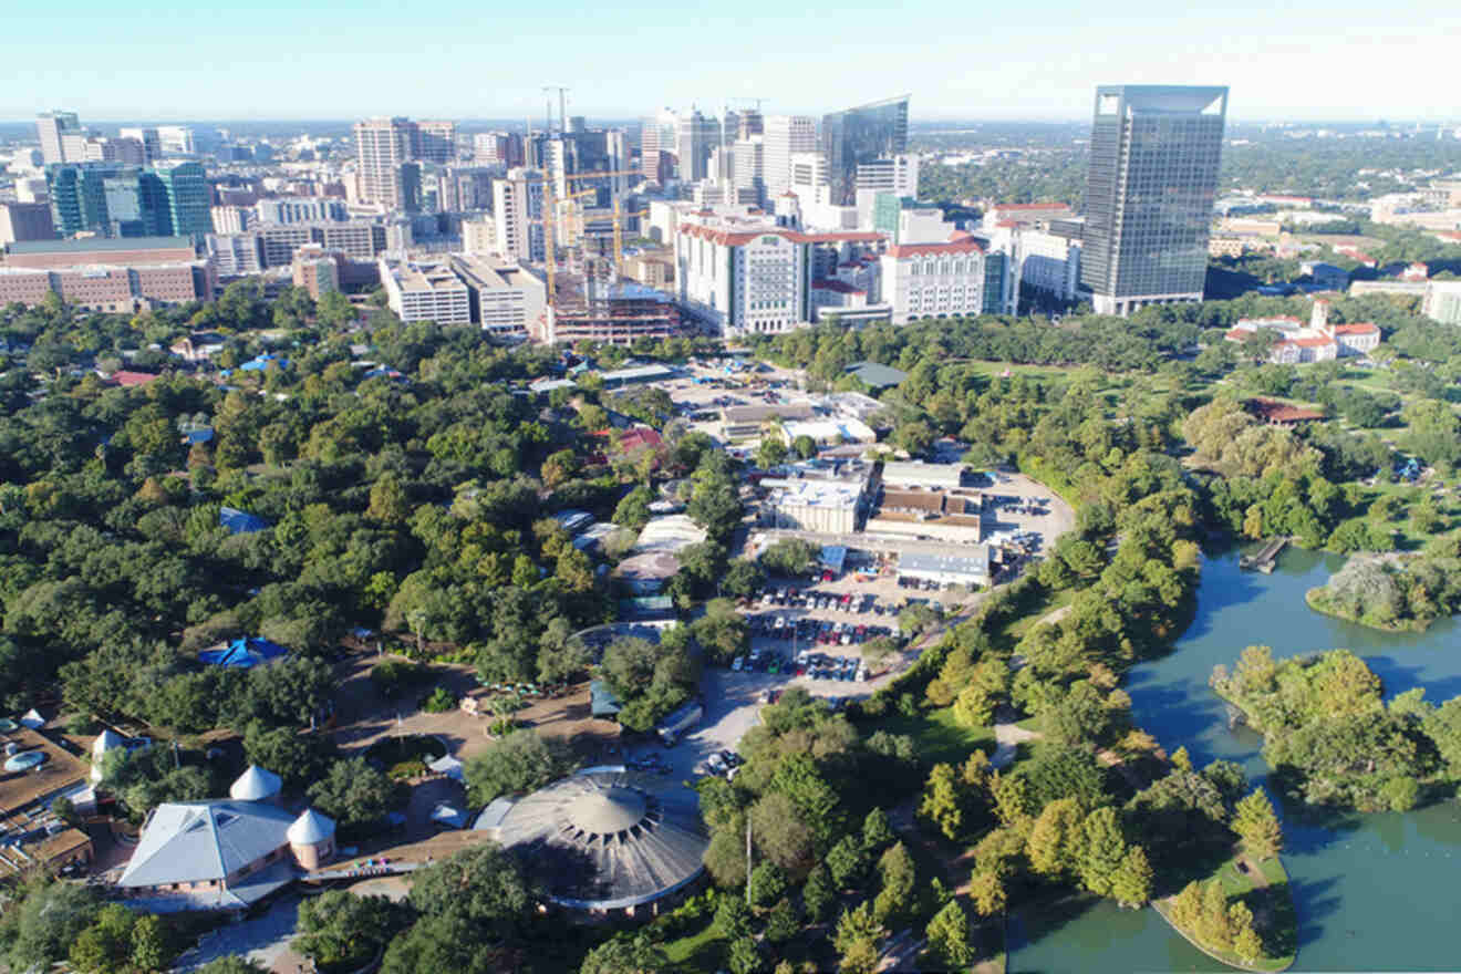
{"label": "large round grey roof with radiating ribs beside the cone-topped pavilions", "polygon": [[704,870],[709,845],[694,791],[622,767],[580,771],[506,809],[494,803],[476,828],[522,853],[549,898],[576,910],[653,902]]}

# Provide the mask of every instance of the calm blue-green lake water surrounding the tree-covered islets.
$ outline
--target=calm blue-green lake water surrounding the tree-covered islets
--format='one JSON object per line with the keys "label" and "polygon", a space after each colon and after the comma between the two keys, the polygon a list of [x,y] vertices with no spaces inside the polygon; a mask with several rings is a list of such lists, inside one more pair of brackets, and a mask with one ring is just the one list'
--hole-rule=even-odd
{"label": "calm blue-green lake water surrounding the tree-covered islets", "polygon": [[[1245,645],[1275,657],[1344,647],[1385,680],[1386,695],[1426,688],[1426,699],[1461,695],[1461,629],[1454,619],[1423,634],[1392,635],[1312,612],[1303,593],[1324,584],[1341,558],[1287,551],[1271,575],[1240,572],[1237,552],[1202,565],[1197,619],[1170,656],[1134,669],[1126,689],[1137,723],[1169,749],[1186,745],[1198,767],[1237,761],[1267,784],[1262,737],[1227,729],[1207,686],[1218,663]],[[1270,791],[1273,794],[1273,791]],[[1274,794],[1274,797],[1277,797]],[[1284,866],[1299,910],[1294,971],[1461,970],[1461,805],[1404,815],[1324,821],[1284,810]],[[1011,920],[1010,970],[1224,971],[1153,911],[1100,905],[1075,916]]]}

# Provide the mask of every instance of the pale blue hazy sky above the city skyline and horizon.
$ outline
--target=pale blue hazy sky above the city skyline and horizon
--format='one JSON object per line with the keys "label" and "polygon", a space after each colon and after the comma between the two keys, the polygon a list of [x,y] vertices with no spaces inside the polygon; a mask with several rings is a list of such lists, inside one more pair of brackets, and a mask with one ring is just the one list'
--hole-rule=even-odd
{"label": "pale blue hazy sky above the city skyline and horizon", "polygon": [[[541,117],[764,98],[821,112],[1086,118],[1099,83],[1230,85],[1236,118],[1446,118],[1461,7],[1398,0],[210,0],[10,3],[0,118]],[[16,39],[23,39],[16,42]]]}

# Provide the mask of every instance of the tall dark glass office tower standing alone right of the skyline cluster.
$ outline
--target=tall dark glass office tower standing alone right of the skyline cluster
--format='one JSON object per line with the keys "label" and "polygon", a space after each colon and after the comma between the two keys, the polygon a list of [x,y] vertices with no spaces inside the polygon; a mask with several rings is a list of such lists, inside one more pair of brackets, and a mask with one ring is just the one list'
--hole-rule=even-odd
{"label": "tall dark glass office tower standing alone right of the skyline cluster", "polygon": [[1099,314],[1202,299],[1227,88],[1096,89],[1081,283]]}

